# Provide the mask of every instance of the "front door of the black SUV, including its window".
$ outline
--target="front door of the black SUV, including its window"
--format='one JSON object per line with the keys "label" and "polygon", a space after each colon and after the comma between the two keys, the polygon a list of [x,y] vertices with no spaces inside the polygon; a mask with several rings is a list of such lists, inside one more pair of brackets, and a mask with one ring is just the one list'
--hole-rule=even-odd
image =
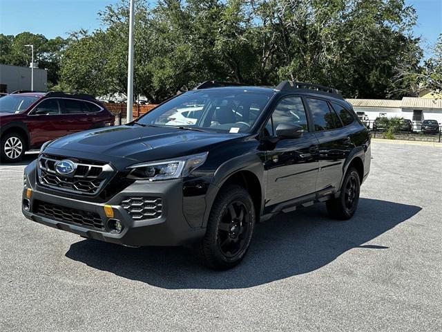
{"label": "front door of the black SUV, including its window", "polygon": [[309,131],[302,98],[289,96],[280,100],[273,110],[266,130],[276,136],[280,123],[298,124],[305,132],[300,138],[283,138],[267,149],[266,206],[296,199],[316,191],[318,176],[318,141]]}

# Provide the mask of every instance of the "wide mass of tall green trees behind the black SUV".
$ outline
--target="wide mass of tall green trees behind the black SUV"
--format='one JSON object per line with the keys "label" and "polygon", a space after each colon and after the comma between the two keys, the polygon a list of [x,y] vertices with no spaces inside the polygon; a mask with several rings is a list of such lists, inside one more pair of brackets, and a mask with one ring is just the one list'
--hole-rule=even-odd
{"label": "wide mass of tall green trees behind the black SUV", "polygon": [[[106,7],[103,28],[73,36],[65,86],[126,91],[127,8],[126,0]],[[400,66],[419,68],[422,57],[412,37],[416,12],[404,0],[159,0],[152,7],[139,0],[135,19],[135,93],[153,102],[208,79],[290,79],[352,98],[400,97],[410,84],[392,78]]]}

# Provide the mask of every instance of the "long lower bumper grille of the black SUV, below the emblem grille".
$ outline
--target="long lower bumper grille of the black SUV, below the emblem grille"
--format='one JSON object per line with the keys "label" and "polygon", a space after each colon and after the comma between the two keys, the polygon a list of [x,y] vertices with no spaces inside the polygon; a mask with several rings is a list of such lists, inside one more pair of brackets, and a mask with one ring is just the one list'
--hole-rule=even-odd
{"label": "long lower bumper grille of the black SUV, below the emblem grille", "polygon": [[34,213],[65,223],[97,228],[99,230],[104,229],[101,217],[95,212],[66,208],[65,206],[36,200],[34,202]]}

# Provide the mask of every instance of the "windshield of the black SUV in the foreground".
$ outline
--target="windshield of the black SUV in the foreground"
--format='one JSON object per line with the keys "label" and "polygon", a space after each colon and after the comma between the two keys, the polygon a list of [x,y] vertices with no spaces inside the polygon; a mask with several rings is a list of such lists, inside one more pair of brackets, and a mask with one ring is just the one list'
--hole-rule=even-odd
{"label": "windshield of the black SUV in the foreground", "polygon": [[189,91],[153,109],[137,122],[229,133],[248,132],[272,93]]}

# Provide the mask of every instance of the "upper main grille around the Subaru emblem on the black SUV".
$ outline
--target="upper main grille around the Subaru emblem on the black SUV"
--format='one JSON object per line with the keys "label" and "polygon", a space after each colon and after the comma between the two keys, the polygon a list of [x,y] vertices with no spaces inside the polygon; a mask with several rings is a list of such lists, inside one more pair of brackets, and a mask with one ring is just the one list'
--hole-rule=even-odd
{"label": "upper main grille around the Subaru emblem on the black SUV", "polygon": [[64,159],[46,154],[39,157],[40,185],[76,194],[95,195],[114,173],[111,165],[69,158],[76,165],[75,171],[69,175],[59,174],[55,165]]}

